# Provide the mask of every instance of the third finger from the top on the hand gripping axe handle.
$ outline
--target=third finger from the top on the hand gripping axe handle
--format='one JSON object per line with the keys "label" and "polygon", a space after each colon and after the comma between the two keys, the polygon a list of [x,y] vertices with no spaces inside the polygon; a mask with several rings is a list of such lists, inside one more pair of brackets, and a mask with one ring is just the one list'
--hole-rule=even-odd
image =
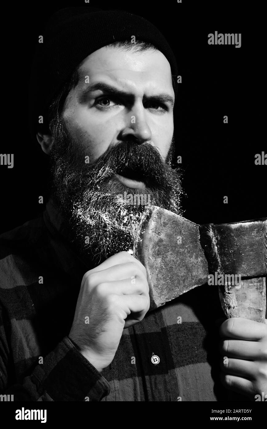
{"label": "third finger from the top on the hand gripping axe handle", "polygon": [[257,366],[254,362],[227,357],[223,357],[221,360],[221,369],[226,374],[237,375],[251,380],[255,380],[257,374]]}

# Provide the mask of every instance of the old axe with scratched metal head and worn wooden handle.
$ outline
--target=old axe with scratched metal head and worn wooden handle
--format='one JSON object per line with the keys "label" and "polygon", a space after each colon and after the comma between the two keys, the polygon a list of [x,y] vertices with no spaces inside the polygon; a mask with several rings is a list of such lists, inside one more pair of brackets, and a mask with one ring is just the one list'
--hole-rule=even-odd
{"label": "old axe with scratched metal head and worn wooden handle", "polygon": [[[208,283],[214,275],[224,279],[217,283],[228,318],[265,322],[267,218],[197,225],[151,206],[143,227],[137,258],[147,272],[149,311]],[[234,275],[240,276],[238,284]]]}

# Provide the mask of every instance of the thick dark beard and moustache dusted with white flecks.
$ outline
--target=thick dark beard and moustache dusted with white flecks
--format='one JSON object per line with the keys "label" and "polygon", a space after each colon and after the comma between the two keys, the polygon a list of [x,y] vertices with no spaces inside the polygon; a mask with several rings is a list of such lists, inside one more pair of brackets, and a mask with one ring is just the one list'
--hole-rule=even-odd
{"label": "thick dark beard and moustache dusted with white flecks", "polygon": [[[181,215],[183,193],[178,170],[171,168],[173,140],[166,163],[149,144],[122,142],[109,148],[96,162],[88,149],[74,142],[60,119],[51,127],[55,140],[50,156],[52,198],[68,225],[68,239],[79,254],[98,265],[106,258],[136,249],[151,205]],[[144,191],[114,180],[116,173],[127,177],[136,171],[146,182]],[[147,194],[148,205],[128,205],[118,197]]]}

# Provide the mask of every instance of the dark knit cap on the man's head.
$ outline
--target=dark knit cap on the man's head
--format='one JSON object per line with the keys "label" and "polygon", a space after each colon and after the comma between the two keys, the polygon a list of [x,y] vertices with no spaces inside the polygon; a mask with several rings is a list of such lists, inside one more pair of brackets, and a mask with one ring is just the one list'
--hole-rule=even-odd
{"label": "dark knit cap on the man's head", "polygon": [[[38,43],[30,79],[30,128],[48,131],[47,109],[74,69],[92,52],[121,40],[152,43],[177,76],[175,56],[160,31],[146,19],[123,10],[87,7],[61,9],[50,18],[43,43]],[[176,82],[176,79],[175,79]],[[39,124],[39,116],[44,124]]]}

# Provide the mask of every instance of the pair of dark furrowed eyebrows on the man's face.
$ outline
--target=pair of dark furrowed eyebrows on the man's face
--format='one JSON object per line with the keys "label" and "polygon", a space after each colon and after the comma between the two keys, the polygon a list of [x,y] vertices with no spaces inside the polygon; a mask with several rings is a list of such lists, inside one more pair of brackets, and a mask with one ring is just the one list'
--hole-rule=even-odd
{"label": "pair of dark furrowed eyebrows on the man's face", "polygon": [[[89,85],[87,88],[85,88],[82,91],[81,94],[81,98],[82,100],[85,99],[85,97],[89,94],[91,94],[94,91],[103,91],[106,92],[108,94],[111,94],[115,97],[122,97],[122,98],[126,98],[128,100],[133,100],[134,99],[134,94],[129,94],[128,92],[119,90],[117,88],[114,88],[113,86],[110,86],[106,83],[103,82],[97,82],[93,85]],[[158,102],[158,103],[169,103],[172,107],[174,105],[174,98],[172,96],[170,96],[169,94],[154,94],[151,95],[150,97],[148,96],[144,96],[144,100],[145,101],[154,101],[154,102]]]}

